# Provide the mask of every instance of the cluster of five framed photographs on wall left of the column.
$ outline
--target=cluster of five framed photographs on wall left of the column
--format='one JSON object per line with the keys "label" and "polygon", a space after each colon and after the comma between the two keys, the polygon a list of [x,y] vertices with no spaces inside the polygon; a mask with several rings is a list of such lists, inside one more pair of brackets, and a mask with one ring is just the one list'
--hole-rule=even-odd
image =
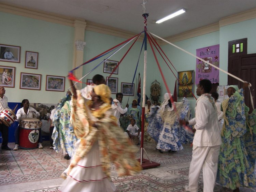
{"label": "cluster of five framed photographs on wall left of the column", "polygon": [[[20,46],[0,44],[0,61],[20,63]],[[38,69],[38,52],[26,51],[25,68]],[[0,86],[15,87],[16,68],[0,65]],[[20,72],[20,89],[41,90],[41,74]],[[46,91],[65,91],[65,77],[46,75]]]}

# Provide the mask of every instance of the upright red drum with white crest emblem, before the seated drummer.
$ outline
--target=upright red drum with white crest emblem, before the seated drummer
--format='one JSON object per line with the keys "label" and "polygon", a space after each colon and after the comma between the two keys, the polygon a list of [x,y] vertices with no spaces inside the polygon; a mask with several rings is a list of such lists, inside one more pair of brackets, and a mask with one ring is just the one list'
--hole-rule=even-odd
{"label": "upright red drum with white crest emblem, before the seated drummer", "polygon": [[37,148],[42,122],[35,118],[22,118],[19,121],[19,147],[22,149]]}

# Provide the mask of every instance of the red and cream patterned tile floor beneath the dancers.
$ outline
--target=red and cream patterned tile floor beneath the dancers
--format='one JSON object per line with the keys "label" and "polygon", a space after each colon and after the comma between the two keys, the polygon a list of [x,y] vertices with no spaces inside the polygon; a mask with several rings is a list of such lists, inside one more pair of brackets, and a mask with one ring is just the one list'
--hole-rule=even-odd
{"label": "red and cream patterned tile floor beneath the dancers", "polygon": [[[14,143],[9,144],[9,147],[13,146]],[[117,191],[183,191],[184,185],[188,183],[192,152],[190,144],[184,145],[182,151],[175,153],[159,153],[152,142],[145,142],[144,147],[151,160],[161,166],[145,169],[134,176],[118,177],[115,166],[112,165],[112,181]],[[137,156],[139,157],[139,154]],[[0,191],[58,191],[63,181],[60,174],[68,164],[69,161],[64,159],[63,155],[49,149],[47,142],[44,142],[44,149],[0,151]],[[203,191],[202,175],[199,186],[199,191]],[[231,190],[216,185],[214,191]],[[242,188],[240,191],[256,190]]]}

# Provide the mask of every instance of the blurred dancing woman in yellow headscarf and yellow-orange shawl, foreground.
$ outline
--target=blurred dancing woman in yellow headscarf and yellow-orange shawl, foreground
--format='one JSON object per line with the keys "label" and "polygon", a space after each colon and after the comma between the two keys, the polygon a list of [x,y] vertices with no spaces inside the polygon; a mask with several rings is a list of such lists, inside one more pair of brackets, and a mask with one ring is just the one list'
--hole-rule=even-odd
{"label": "blurred dancing woman in yellow headscarf and yellow-orange shawl, foreground", "polygon": [[110,179],[110,163],[115,163],[119,176],[139,172],[141,166],[135,157],[137,148],[129,143],[116,123],[108,86],[94,87],[92,100],[85,101],[72,82],[71,85],[72,124],[80,142],[76,144],[61,191],[115,191]]}

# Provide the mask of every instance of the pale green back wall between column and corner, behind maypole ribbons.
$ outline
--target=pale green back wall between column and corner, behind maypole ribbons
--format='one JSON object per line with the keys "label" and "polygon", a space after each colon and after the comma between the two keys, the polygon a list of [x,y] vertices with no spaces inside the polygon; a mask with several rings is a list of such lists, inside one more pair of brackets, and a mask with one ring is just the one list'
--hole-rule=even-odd
{"label": "pale green back wall between column and corner, behind maypole ribbons", "polygon": [[[103,51],[108,50],[109,48],[125,41],[126,39],[118,38],[112,35],[106,35],[91,31],[85,31],[85,42],[86,46],[84,48],[84,62],[97,56],[98,54],[101,54]],[[113,55],[110,60],[114,61],[120,61],[121,58],[124,56],[126,51],[131,46],[132,42],[126,45],[123,49],[121,49],[118,53]],[[132,78],[136,69],[136,64],[139,58],[139,53],[141,49],[142,42],[137,41],[127,56],[124,58],[124,60],[120,63],[118,68],[118,74],[113,74],[112,77],[118,78],[118,92],[121,92],[121,83],[132,83]],[[148,47],[149,48],[149,47]],[[110,54],[109,54],[110,55]],[[102,58],[88,63],[84,65],[83,67],[83,74],[87,74],[91,69],[93,69],[96,65],[98,65],[100,62],[102,62],[104,59],[106,59],[109,55],[103,56]],[[146,77],[146,94],[149,97],[150,96],[150,85],[155,80],[158,79],[159,76],[156,74],[153,70],[154,68],[154,60],[152,58],[152,54],[148,54],[147,57],[147,77]],[[86,79],[92,79],[95,74],[101,74],[105,78],[109,76],[109,73],[103,73],[103,65],[100,65],[96,70],[91,72],[87,77],[84,78],[84,82],[86,82]],[[134,96],[124,96],[123,97],[123,106],[128,101],[129,98],[129,104],[131,104],[132,99],[137,99],[137,88],[138,88],[138,74],[140,72],[141,74],[141,84],[143,83],[143,69],[144,69],[144,48],[141,53],[136,78],[134,79],[135,87],[134,87]],[[83,85],[84,87],[85,85]],[[141,91],[143,87],[141,85]],[[115,94],[112,94],[111,96],[113,99],[115,98]],[[142,101],[142,99],[141,99]]]}

